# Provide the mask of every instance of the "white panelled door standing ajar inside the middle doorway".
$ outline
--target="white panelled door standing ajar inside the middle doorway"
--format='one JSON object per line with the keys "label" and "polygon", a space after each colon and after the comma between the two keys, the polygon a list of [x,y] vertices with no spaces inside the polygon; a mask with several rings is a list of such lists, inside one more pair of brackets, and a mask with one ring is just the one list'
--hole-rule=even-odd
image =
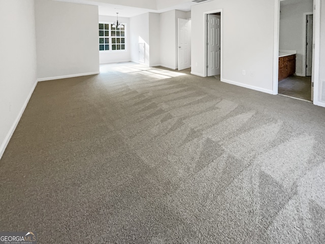
{"label": "white panelled door standing ajar inside the middle doorway", "polygon": [[220,75],[220,58],[221,58],[221,16],[208,14],[208,60],[207,75]]}

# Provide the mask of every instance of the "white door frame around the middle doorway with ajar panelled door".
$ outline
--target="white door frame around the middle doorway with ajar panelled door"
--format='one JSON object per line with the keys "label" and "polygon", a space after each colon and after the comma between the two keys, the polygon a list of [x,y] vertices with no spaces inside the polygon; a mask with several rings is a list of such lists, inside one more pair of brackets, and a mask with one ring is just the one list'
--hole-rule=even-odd
{"label": "white door frame around the middle doorway with ajar panelled door", "polygon": [[220,21],[221,21],[221,25],[220,25],[220,39],[221,39],[221,42],[220,42],[220,81],[223,80],[223,76],[222,76],[222,60],[223,60],[223,51],[222,51],[222,32],[223,32],[223,14],[222,14],[222,9],[216,9],[216,10],[210,10],[210,11],[207,11],[207,12],[204,12],[203,13],[203,21],[204,21],[204,34],[205,34],[205,43],[204,43],[204,46],[205,46],[205,59],[204,59],[204,77],[207,77],[208,75],[208,71],[207,71],[207,65],[208,65],[208,46],[207,46],[207,42],[208,42],[208,23],[207,23],[207,17],[208,17],[208,14],[215,14],[215,13],[220,13]]}

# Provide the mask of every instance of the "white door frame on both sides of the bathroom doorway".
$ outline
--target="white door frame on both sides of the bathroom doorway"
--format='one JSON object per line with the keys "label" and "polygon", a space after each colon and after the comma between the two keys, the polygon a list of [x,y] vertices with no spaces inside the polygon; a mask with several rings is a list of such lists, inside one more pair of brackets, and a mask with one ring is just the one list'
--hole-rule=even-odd
{"label": "white door frame on both sides of the bathroom doorway", "polygon": [[[274,50],[273,50],[273,94],[278,94],[278,73],[279,73],[279,29],[280,29],[280,2],[275,1],[274,5]],[[313,104],[325,107],[325,102],[320,98],[320,80],[319,80],[319,50],[320,50],[320,0],[314,0],[313,3],[313,60],[312,60],[312,77],[314,84]],[[305,22],[305,21],[304,21]],[[306,72],[306,71],[305,71]]]}

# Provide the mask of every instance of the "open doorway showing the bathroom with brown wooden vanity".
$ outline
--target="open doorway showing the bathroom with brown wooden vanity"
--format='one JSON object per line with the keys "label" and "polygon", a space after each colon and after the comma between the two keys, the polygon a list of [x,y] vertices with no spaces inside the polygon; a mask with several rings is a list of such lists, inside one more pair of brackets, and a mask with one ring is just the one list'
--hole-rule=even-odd
{"label": "open doorway showing the bathroom with brown wooden vanity", "polygon": [[280,1],[278,94],[312,101],[313,0]]}

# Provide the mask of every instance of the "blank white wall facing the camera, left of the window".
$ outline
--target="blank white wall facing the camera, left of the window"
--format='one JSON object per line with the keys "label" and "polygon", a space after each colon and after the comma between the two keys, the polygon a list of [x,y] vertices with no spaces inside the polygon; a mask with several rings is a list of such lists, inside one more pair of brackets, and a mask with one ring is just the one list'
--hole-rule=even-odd
{"label": "blank white wall facing the camera, left of the window", "polygon": [[38,78],[99,73],[98,6],[36,0]]}

